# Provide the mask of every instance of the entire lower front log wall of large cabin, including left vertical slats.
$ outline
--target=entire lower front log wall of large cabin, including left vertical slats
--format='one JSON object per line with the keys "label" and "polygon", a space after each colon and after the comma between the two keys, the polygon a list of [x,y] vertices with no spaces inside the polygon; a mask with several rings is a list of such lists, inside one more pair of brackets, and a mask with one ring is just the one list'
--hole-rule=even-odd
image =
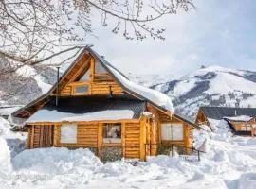
{"label": "entire lower front log wall of large cabin, including left vertical slats", "polygon": [[[120,144],[104,144],[103,143],[103,123],[104,122],[78,122],[72,123],[77,125],[77,143],[61,143],[61,127],[62,125],[29,125],[27,148],[36,147],[86,147],[94,149],[96,154],[101,157],[102,150],[107,147],[121,147],[122,156],[125,158],[141,158],[145,159],[144,143],[143,138],[146,136],[144,133],[146,130],[145,123],[141,124],[139,120],[133,121],[120,121],[121,123],[121,143]],[[113,123],[113,122],[108,122]],[[65,123],[64,123],[65,124]],[[142,129],[141,129],[142,127]],[[47,131],[48,128],[52,129],[52,132]],[[46,129],[46,130],[45,130]],[[141,133],[142,130],[142,133]],[[50,143],[46,141],[50,137]],[[140,144],[143,142],[143,144]],[[141,153],[142,150],[142,153]],[[142,157],[141,157],[142,156]]]}

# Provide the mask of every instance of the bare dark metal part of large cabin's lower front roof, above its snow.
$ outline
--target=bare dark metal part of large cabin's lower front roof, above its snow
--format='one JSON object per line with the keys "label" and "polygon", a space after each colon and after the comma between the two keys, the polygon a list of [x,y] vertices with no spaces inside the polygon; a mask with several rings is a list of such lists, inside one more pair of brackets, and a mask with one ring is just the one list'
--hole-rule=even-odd
{"label": "bare dark metal part of large cabin's lower front roof, above its snow", "polygon": [[68,112],[74,114],[82,114],[88,112],[101,111],[120,111],[129,110],[134,112],[133,119],[138,119],[146,109],[146,102],[129,99],[127,97],[103,97],[103,96],[76,96],[76,97],[60,97],[59,104],[56,107],[55,98],[51,100],[41,109],[48,111]]}

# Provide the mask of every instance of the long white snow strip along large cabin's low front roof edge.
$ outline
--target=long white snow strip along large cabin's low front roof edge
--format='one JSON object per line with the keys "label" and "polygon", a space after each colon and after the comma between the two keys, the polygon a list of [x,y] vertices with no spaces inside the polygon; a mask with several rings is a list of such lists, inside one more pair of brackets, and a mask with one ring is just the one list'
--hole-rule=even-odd
{"label": "long white snow strip along large cabin's low front roof edge", "polygon": [[132,119],[134,112],[130,110],[108,110],[100,112],[70,113],[56,110],[39,110],[27,119],[27,123],[33,122],[62,122],[62,121],[99,121]]}

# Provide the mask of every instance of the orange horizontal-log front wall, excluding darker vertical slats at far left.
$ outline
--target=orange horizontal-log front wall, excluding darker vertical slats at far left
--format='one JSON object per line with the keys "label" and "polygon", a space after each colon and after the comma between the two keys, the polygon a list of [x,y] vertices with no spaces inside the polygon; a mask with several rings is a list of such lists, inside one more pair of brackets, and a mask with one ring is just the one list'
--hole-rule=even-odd
{"label": "orange horizontal-log front wall, excluding darker vertical slats at far left", "polygon": [[[101,158],[102,147],[120,146],[122,155],[125,158],[140,158],[140,122],[139,120],[121,121],[121,144],[104,144],[103,143],[103,123],[107,122],[82,122],[77,124],[77,143],[64,144],[61,141],[61,125],[57,124],[54,128],[54,146],[56,147],[92,147],[97,149],[97,155]],[[74,123],[75,124],[75,123]],[[144,134],[142,134],[142,137]],[[144,146],[145,142],[143,143]],[[144,157],[143,157],[144,159]]]}

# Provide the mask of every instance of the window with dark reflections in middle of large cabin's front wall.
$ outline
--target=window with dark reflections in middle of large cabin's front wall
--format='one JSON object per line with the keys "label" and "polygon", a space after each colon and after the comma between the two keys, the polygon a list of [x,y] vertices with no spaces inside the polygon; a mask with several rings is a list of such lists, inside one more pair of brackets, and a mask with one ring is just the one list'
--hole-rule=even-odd
{"label": "window with dark reflections in middle of large cabin's front wall", "polygon": [[121,143],[121,124],[103,125],[104,143]]}

